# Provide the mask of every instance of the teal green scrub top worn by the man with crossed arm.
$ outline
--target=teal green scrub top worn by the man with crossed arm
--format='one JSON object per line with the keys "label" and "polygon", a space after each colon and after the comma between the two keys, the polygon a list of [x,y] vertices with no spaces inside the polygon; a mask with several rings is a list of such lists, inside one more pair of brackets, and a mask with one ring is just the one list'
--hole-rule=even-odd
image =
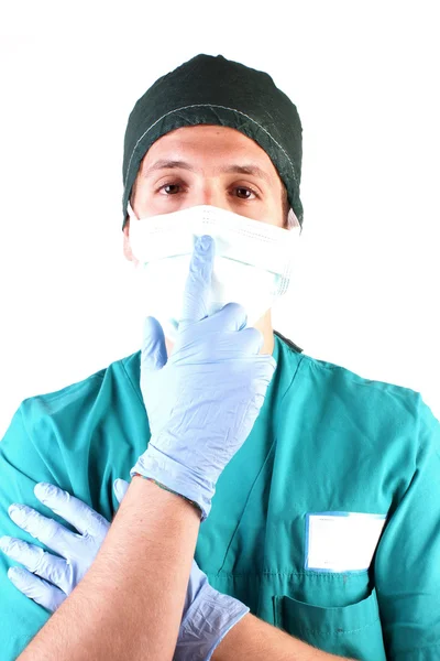
{"label": "teal green scrub top worn by the man with crossed arm", "polygon": [[[296,349],[275,334],[277,368],[220,476],[196,560],[213,587],[321,650],[438,660],[440,424],[419,393]],[[8,507],[53,516],[34,497],[37,481],[111,520],[113,480],[129,480],[148,438],[140,351],[24,400],[0,443],[0,534],[35,542]],[[10,564],[0,553],[1,661],[50,617],[9,582]]]}

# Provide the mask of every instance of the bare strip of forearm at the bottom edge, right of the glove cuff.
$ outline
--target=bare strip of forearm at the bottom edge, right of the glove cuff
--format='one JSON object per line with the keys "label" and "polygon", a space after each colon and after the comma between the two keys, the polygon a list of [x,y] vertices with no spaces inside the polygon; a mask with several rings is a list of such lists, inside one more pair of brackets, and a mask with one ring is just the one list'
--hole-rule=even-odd
{"label": "bare strip of forearm at the bottom edge, right of the glove cuff", "polygon": [[342,659],[328,654],[267,625],[253,615],[245,615],[227,633],[212,654],[212,661],[332,661]]}

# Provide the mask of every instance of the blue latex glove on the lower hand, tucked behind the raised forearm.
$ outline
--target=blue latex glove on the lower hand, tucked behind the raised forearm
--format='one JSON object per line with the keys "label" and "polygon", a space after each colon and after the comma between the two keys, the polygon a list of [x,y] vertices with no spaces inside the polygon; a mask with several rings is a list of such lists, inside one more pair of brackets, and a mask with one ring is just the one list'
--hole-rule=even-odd
{"label": "blue latex glove on the lower hand, tucked behind the raised forearm", "polygon": [[[121,502],[129,485],[117,479],[113,489]],[[0,549],[26,568],[11,567],[8,576],[25,596],[55,611],[73,592],[94,562],[110,523],[98,512],[58,487],[40,483],[35,496],[81,534],[70,532],[53,519],[23,505],[9,508],[11,519],[62,557],[16,538],[0,538]],[[206,574],[193,561],[183,620],[174,661],[210,659],[213,650],[249,613],[238,599],[213,589]]]}

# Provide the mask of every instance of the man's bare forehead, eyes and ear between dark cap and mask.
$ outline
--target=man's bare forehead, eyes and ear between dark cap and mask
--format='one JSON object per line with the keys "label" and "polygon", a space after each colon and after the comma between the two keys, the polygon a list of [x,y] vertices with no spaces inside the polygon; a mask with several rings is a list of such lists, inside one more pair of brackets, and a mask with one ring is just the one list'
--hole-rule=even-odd
{"label": "man's bare forehead, eyes and ear between dark cap and mask", "polygon": [[[233,171],[239,166],[254,170]],[[275,166],[256,142],[229,127],[198,124],[170,131],[152,144],[141,163],[131,205],[138,218],[146,218],[207,204],[285,228],[285,198]],[[123,230],[124,253],[135,261],[129,227],[130,221]]]}

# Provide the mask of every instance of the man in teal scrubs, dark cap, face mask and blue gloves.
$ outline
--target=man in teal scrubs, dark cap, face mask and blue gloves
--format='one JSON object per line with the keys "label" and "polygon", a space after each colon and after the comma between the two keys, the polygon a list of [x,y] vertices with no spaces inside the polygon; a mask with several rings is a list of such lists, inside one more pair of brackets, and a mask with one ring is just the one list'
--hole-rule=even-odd
{"label": "man in teal scrubs, dark cap, face mask and blue gloves", "polygon": [[439,421],[272,328],[300,172],[266,73],[201,54],[136,102],[142,349],[0,443],[2,661],[439,659]]}

